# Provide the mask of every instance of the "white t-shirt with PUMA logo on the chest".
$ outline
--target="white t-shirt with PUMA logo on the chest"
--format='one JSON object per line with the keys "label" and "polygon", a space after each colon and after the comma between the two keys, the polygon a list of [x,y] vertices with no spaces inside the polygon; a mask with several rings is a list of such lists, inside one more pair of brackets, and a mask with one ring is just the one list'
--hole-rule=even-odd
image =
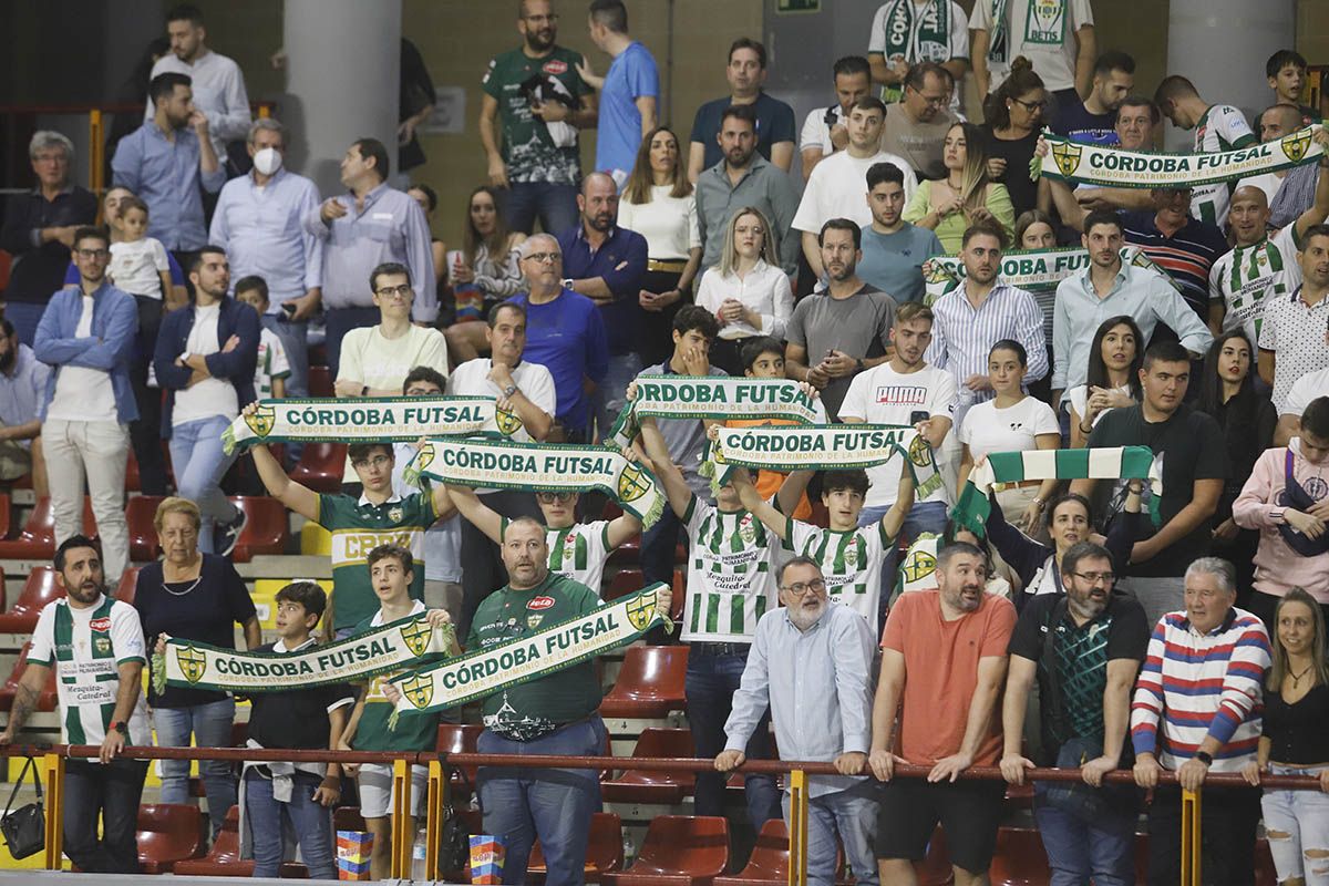
{"label": "white t-shirt with PUMA logo on the chest", "polygon": [[[888,361],[855,376],[839,414],[841,421],[861,418],[870,425],[909,425],[909,416],[914,412],[953,418],[956,400],[956,377],[945,369],[924,365],[917,372],[900,375]],[[900,489],[900,462],[892,460],[869,468],[868,480],[872,487],[864,506],[893,505]],[[948,501],[945,486],[942,484],[922,501]]]}

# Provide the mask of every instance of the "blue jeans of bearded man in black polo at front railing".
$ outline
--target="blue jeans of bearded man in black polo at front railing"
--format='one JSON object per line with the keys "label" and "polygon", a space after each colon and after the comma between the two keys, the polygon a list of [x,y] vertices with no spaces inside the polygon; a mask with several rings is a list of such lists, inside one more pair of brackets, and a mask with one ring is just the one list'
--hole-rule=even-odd
{"label": "blue jeans of bearded man in black polo at front railing", "polygon": [[1034,784],[1034,821],[1053,869],[1050,886],[1131,886],[1135,882],[1135,810],[1086,821],[1047,805]]}

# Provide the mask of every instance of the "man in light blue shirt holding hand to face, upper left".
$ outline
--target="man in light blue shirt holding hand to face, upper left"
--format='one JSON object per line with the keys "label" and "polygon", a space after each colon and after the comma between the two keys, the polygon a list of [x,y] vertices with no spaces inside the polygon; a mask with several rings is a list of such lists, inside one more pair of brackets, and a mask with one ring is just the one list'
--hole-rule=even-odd
{"label": "man in light blue shirt holding hand to face, upper left", "polygon": [[148,92],[157,112],[120,139],[110,159],[112,181],[148,203],[148,236],[173,252],[193,252],[207,244],[199,186],[215,194],[226,183],[226,170],[213,149],[207,117],[194,108],[190,78],[158,74]]}

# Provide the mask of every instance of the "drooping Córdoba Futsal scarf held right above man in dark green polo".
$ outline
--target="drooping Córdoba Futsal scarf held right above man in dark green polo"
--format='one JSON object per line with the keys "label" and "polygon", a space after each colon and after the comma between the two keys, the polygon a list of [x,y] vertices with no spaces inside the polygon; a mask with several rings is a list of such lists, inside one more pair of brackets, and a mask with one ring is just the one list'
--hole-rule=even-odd
{"label": "drooping C\u00f3rdoba Futsal scarf held right above man in dark green polo", "polygon": [[498,489],[573,493],[599,489],[646,529],[664,511],[664,493],[655,476],[605,446],[433,440],[411,460],[403,478],[413,486],[428,480]]}

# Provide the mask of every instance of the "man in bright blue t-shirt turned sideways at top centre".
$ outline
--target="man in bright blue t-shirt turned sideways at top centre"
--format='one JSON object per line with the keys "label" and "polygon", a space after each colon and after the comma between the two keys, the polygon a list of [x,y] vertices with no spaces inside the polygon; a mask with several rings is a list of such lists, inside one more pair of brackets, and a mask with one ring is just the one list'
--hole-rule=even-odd
{"label": "man in bright blue t-shirt turned sideways at top centre", "polygon": [[657,125],[659,72],[650,50],[627,35],[622,0],[594,0],[587,28],[591,43],[614,58],[603,78],[589,69],[579,72],[582,80],[601,90],[595,170],[609,173],[623,187],[642,139]]}

